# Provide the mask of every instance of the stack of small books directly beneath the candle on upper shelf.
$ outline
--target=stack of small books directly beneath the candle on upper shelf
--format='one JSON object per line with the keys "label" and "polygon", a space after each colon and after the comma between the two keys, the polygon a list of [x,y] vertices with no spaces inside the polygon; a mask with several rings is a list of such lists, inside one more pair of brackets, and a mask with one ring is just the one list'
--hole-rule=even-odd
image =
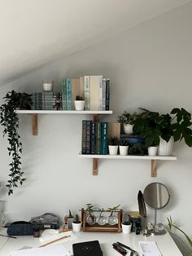
{"label": "stack of small books directly beneath the candle on upper shelf", "polygon": [[42,109],[44,110],[62,110],[61,92],[43,91]]}

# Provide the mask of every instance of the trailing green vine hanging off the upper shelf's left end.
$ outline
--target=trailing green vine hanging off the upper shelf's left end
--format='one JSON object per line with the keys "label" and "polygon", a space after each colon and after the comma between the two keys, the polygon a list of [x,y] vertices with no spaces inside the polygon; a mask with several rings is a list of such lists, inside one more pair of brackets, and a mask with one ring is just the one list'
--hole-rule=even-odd
{"label": "trailing green vine hanging off the upper shelf's left end", "polygon": [[12,157],[10,163],[10,174],[7,181],[8,195],[13,193],[13,188],[18,187],[24,182],[24,171],[20,169],[22,153],[22,143],[20,141],[19,130],[19,117],[15,113],[16,108],[20,109],[31,109],[32,99],[31,95],[26,93],[15,92],[11,90],[3,98],[5,103],[0,106],[1,112],[1,125],[4,127],[2,130],[3,136],[7,135],[9,143],[8,152],[9,156]]}

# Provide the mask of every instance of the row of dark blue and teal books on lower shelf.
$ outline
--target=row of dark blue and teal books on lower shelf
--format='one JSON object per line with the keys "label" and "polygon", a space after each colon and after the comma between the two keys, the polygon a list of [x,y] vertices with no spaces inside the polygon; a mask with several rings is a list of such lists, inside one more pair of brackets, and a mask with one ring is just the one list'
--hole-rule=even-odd
{"label": "row of dark blue and teal books on lower shelf", "polygon": [[108,123],[90,120],[82,121],[81,153],[107,155]]}

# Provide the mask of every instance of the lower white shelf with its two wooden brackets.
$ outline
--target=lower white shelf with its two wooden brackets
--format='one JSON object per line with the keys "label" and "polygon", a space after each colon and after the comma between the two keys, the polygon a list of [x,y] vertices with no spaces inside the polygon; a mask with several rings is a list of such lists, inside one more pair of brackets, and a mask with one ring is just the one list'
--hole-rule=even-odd
{"label": "lower white shelf with its two wooden brackets", "polygon": [[86,155],[79,153],[78,157],[81,158],[91,158],[93,159],[93,175],[98,174],[98,159],[124,159],[124,160],[151,160],[151,177],[157,176],[157,161],[172,161],[177,160],[177,157],[175,156],[112,156],[112,155]]}

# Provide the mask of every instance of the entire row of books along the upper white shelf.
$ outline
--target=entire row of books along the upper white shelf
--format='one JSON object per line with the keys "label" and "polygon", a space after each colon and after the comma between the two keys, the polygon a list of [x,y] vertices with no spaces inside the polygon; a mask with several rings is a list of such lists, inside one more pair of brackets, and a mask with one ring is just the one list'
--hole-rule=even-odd
{"label": "entire row of books along the upper white shelf", "polygon": [[63,78],[61,92],[33,93],[33,109],[75,110],[74,101],[80,96],[85,99],[85,110],[109,110],[110,83],[102,75]]}

